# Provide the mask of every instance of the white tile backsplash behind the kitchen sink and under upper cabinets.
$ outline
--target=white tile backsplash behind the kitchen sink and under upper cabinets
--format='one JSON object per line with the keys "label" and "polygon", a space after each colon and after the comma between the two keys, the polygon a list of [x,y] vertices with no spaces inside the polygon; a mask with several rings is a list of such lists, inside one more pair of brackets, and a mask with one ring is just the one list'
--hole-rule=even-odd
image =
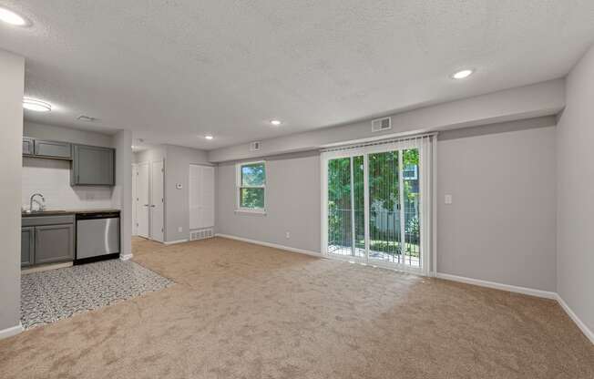
{"label": "white tile backsplash behind the kitchen sink and under upper cabinets", "polygon": [[111,208],[111,187],[70,187],[70,164],[67,160],[23,157],[21,205],[28,207],[30,196],[40,192],[48,210]]}

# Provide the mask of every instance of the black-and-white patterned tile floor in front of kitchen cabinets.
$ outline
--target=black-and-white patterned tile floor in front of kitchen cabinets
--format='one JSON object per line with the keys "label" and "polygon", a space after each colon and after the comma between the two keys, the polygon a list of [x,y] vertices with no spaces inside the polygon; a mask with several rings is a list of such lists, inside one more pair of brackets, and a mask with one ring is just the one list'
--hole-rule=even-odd
{"label": "black-and-white patterned tile floor in front of kitchen cabinets", "polygon": [[21,277],[25,329],[91,311],[173,284],[133,261],[98,261]]}

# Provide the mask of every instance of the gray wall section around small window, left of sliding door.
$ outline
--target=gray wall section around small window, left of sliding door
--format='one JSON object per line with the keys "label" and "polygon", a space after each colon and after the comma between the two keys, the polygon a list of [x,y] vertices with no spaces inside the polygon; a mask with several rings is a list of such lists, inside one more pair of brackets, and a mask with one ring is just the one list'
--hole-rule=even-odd
{"label": "gray wall section around small window, left of sliding door", "polygon": [[235,164],[220,164],[216,177],[218,233],[320,251],[318,152],[266,159],[265,216],[235,212]]}

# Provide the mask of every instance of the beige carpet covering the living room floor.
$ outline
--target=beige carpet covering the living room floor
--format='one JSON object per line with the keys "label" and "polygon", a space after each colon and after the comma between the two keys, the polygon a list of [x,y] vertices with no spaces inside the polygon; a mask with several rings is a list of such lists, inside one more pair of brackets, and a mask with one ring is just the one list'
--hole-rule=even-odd
{"label": "beige carpet covering the living room floor", "polygon": [[0,377],[594,378],[556,302],[220,238],[134,246],[177,284],[0,341]]}

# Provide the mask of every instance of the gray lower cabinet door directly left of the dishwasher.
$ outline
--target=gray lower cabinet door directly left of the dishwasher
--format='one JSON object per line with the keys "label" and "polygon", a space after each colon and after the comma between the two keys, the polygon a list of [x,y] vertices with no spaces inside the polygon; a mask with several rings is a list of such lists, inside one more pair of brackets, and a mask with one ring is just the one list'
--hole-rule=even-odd
{"label": "gray lower cabinet door directly left of the dishwasher", "polygon": [[35,228],[35,263],[74,260],[74,225],[44,225]]}

